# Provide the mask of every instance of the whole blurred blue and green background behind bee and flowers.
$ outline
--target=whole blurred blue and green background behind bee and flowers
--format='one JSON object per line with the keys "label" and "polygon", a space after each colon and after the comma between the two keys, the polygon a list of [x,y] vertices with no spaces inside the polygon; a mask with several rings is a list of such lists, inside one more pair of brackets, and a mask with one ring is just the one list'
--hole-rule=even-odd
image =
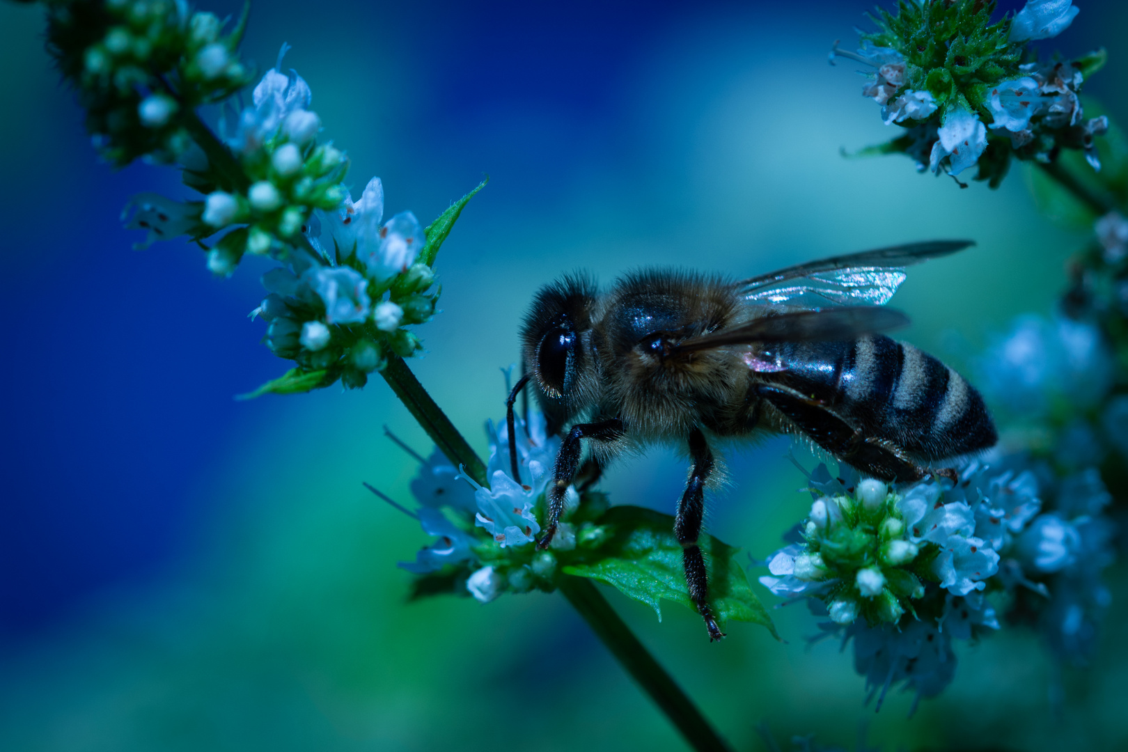
{"label": "whole blurred blue and green background behind bee and flowers", "polygon": [[[1128,8],[1079,5],[1048,46],[1109,46],[1086,91],[1123,122]],[[1051,309],[1085,236],[1038,215],[1021,169],[960,191],[904,158],[839,156],[889,136],[852,68],[827,65],[864,9],[261,2],[244,50],[262,70],[294,46],[285,64],[349,151],[351,187],[379,175],[389,213],[425,222],[491,176],[440,255],[444,313],[413,363],[484,451],[519,318],[573,268],[750,275],[968,237],[898,294],[906,339],[966,366],[1012,316]],[[559,596],[405,603],[395,561],[425,539],[360,484],[407,501],[414,463],[381,426],[420,451],[424,435],[380,380],[232,400],[285,369],[246,316],[265,267],[217,280],[183,242],[131,250],[129,196],[188,193],[171,170],[98,162],[37,7],[0,5],[0,749],[685,749]],[[712,499],[712,531],[754,556],[809,503],[785,451],[733,457]],[[682,478],[655,451],[607,486],[671,511]],[[1032,750],[1128,745],[1128,592],[1113,594],[1101,661],[1064,674],[1060,716],[1056,669],[1004,630],[911,720],[907,696],[863,707],[848,654],[804,648],[805,612],[775,612],[785,644],[738,625],[711,646],[694,614],[658,623],[609,598],[738,749],[759,749],[766,722],[779,738],[848,745],[864,727],[885,749]]]}

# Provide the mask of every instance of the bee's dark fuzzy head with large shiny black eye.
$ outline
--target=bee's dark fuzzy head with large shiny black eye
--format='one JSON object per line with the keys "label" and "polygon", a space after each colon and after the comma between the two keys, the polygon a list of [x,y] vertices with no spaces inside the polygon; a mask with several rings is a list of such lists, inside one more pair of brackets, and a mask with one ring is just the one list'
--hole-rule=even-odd
{"label": "bee's dark fuzzy head with large shiny black eye", "polygon": [[540,387],[549,423],[565,422],[589,401],[593,362],[588,352],[596,307],[596,283],[569,275],[545,285],[532,299],[521,327],[521,354]]}

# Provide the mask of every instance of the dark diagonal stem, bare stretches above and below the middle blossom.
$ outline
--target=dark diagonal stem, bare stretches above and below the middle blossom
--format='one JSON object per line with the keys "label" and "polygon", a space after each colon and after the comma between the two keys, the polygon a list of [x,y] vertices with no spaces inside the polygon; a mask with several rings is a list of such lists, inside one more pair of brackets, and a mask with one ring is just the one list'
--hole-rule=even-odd
{"label": "dark diagonal stem, bare stretches above and below the middle blossom", "polygon": [[[407,406],[432,441],[451,462],[461,465],[466,474],[486,485],[486,469],[477,454],[466,443],[458,428],[431,399],[407,363],[398,355],[388,359],[388,365],[380,372],[385,381],[396,392],[396,397]],[[646,690],[662,713],[677,726],[689,745],[695,750],[731,752],[731,747],[710,725],[705,716],[659,665],[654,656],[638,642],[626,622],[615,613],[611,604],[585,577],[562,575],[557,584],[596,635],[603,642],[611,655],[623,664],[638,684]]]}

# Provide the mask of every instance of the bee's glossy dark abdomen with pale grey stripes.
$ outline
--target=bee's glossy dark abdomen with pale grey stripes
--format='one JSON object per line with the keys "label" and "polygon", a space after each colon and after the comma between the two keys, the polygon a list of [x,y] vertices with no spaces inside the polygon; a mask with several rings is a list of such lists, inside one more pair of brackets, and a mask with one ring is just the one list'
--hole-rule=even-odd
{"label": "bee's glossy dark abdomen with pale grey stripes", "polygon": [[982,397],[963,377],[913,345],[874,335],[774,348],[785,370],[773,382],[813,397],[866,436],[940,460],[993,446]]}

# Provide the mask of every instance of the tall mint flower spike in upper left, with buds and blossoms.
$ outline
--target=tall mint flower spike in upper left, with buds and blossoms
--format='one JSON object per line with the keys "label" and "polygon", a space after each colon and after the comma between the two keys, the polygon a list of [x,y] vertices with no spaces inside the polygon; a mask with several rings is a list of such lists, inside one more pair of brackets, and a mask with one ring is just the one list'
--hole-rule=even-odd
{"label": "tall mint flower spike in upper left, with buds and blossoms", "polygon": [[197,108],[253,80],[237,53],[246,12],[227,34],[214,15],[162,0],[79,0],[49,15],[49,45],[102,153],[117,165],[176,163],[201,194],[139,195],[126,225],[146,230],[147,244],[186,236],[221,276],[246,254],[281,263],[263,276],[268,294],[250,316],[267,322],[266,345],[294,368],[249,396],[338,380],[363,387],[389,357],[422,347],[408,327],[434,315],[435,255],[481,185],[426,229],[412,212],[385,221],[379,178],[353,201],[342,184],[349,160],[321,141],[309,85],[282,68],[285,45],[252,104],[228,107],[217,135]]}

